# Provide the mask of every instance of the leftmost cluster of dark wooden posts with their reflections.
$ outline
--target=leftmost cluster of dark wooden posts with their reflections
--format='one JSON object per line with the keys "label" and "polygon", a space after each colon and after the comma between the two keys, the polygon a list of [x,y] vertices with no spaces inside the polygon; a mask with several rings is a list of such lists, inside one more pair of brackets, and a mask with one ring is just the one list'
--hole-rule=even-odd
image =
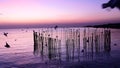
{"label": "leftmost cluster of dark wooden posts with their reflections", "polygon": [[35,32],[34,35],[34,54],[47,56],[49,59],[60,57],[61,40],[52,38],[50,34],[43,32]]}

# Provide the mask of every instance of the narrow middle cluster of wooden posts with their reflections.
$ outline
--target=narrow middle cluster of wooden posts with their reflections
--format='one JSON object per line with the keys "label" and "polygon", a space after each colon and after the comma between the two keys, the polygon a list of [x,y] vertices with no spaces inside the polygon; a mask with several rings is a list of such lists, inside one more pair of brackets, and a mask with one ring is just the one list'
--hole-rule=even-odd
{"label": "narrow middle cluster of wooden posts with their reflections", "polygon": [[80,58],[80,29],[65,31],[66,60],[74,61]]}

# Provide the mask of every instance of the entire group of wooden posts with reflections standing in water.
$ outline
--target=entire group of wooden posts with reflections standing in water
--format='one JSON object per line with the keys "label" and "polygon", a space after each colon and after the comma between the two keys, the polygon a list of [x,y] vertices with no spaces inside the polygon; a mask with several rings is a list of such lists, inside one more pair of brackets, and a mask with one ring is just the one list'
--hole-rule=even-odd
{"label": "entire group of wooden posts with reflections standing in water", "polygon": [[33,31],[33,37],[34,55],[43,60],[79,62],[110,56],[110,29],[49,28]]}

